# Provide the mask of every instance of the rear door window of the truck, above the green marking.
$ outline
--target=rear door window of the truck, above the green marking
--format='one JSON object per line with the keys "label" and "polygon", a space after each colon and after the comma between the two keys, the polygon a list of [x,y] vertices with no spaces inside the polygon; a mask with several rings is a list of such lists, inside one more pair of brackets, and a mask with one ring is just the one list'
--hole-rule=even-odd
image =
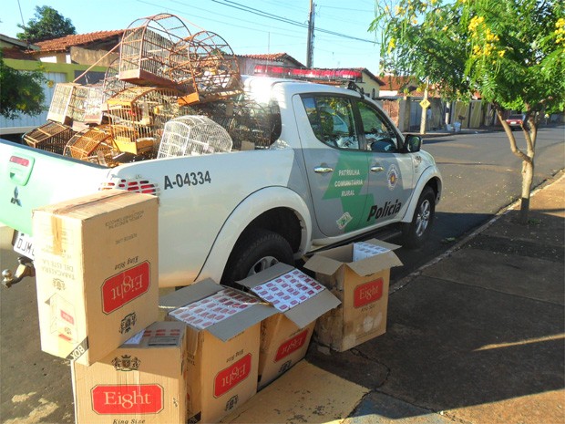
{"label": "rear door window of the truck, above the green marking", "polygon": [[302,99],[316,139],[333,148],[359,149],[353,105],[349,98],[303,96]]}

